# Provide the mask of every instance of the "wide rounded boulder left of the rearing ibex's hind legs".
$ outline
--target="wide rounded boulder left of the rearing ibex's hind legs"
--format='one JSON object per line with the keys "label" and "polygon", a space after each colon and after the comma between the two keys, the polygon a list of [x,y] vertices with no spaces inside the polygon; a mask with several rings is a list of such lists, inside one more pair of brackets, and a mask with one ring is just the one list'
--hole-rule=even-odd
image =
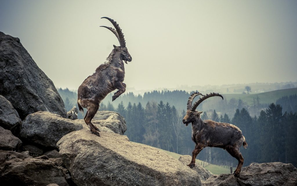
{"label": "wide rounded boulder left of the rearing ibex's hind legs", "polygon": [[83,126],[73,120],[62,118],[57,114],[38,111],[29,114],[22,123],[20,138],[27,143],[37,144],[44,148],[56,148],[56,143],[64,135],[81,130]]}

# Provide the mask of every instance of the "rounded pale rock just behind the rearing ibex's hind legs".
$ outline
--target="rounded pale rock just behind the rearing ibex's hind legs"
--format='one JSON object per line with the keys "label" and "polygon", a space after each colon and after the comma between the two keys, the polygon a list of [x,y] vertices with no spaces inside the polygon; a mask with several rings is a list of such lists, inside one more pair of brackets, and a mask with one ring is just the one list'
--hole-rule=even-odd
{"label": "rounded pale rock just behind the rearing ibex's hind legs", "polygon": [[117,134],[123,135],[127,130],[126,121],[124,117],[117,112],[98,111],[95,114],[92,122],[94,120],[97,120],[95,122],[96,124],[99,124],[102,127],[107,127]]}

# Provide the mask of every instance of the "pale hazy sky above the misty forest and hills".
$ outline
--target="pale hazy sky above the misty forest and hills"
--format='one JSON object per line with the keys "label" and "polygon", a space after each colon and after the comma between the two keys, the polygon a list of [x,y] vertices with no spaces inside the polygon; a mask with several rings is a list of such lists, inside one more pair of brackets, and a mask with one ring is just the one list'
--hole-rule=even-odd
{"label": "pale hazy sky above the misty forest and hills", "polygon": [[297,80],[297,1],[0,1],[0,31],[62,88],[119,45],[104,16],[125,35],[128,87]]}

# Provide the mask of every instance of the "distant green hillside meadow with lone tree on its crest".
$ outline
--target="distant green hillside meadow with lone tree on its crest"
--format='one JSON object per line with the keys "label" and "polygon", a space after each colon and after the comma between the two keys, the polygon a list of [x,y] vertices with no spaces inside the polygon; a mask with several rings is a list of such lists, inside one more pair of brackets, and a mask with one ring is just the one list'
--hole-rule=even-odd
{"label": "distant green hillside meadow with lone tree on its crest", "polygon": [[254,101],[254,98],[256,100],[257,96],[260,98],[261,103],[275,103],[277,99],[297,94],[297,88],[293,89],[282,89],[282,90],[274,90],[270,92],[263,92],[258,94],[224,94],[224,98],[227,98],[227,100],[230,100],[231,98],[235,98],[238,100],[239,98],[243,101],[247,102],[248,105],[251,105]]}

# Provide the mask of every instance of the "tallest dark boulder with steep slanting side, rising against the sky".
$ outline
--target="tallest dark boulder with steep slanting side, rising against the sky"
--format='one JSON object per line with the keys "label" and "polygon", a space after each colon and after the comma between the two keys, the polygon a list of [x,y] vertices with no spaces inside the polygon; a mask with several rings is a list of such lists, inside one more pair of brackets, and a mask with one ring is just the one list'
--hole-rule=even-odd
{"label": "tallest dark boulder with steep slanting side, rising against the sky", "polygon": [[0,32],[0,94],[21,119],[37,111],[67,118],[64,102],[53,82],[40,70],[20,39]]}

